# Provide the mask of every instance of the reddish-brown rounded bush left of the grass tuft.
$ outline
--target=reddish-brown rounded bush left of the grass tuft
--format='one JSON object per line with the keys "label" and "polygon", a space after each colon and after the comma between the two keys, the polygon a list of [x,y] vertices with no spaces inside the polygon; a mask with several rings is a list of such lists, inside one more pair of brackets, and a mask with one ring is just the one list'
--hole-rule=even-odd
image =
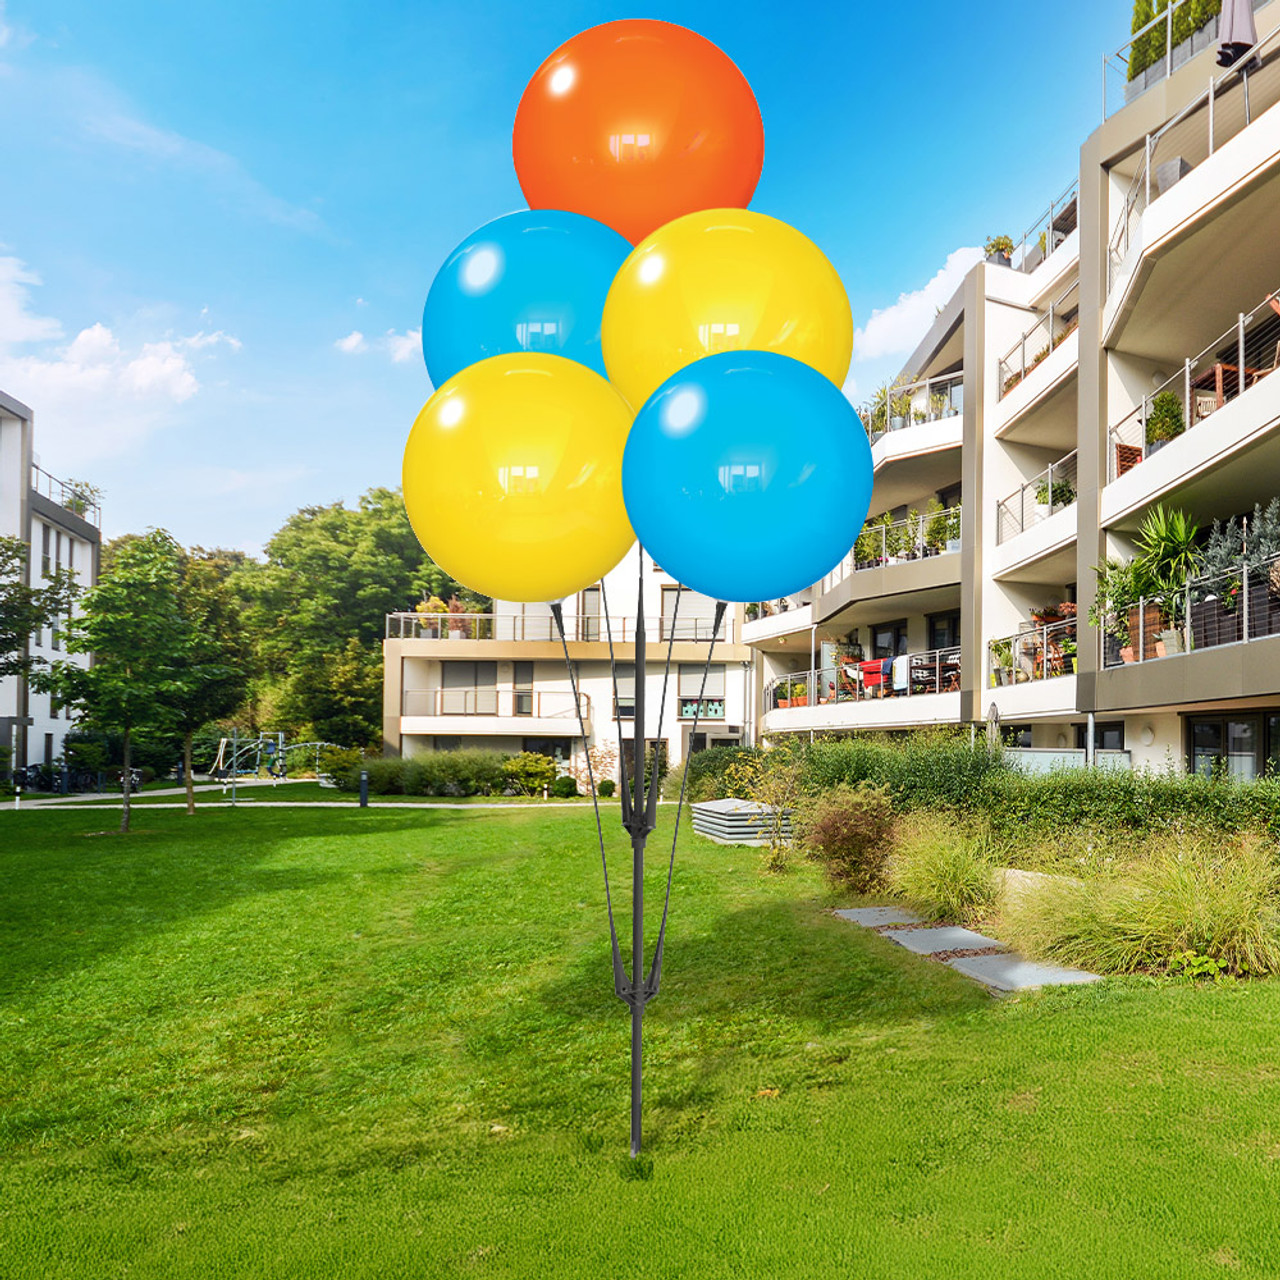
{"label": "reddish-brown rounded bush left of the grass tuft", "polygon": [[796,810],[792,831],[832,883],[855,893],[883,883],[893,838],[893,805],[883,787],[861,782],[814,796]]}

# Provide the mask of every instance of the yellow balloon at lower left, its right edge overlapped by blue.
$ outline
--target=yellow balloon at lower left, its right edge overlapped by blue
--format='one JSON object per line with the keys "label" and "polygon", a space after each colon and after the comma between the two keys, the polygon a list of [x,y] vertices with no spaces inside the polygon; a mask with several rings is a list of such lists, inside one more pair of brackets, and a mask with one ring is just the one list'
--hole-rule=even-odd
{"label": "yellow balloon at lower left, its right edge overlapped by blue", "polygon": [[426,402],[404,447],[413,532],[481,595],[572,595],[635,541],[622,503],[631,416],[599,374],[561,356],[468,365]]}

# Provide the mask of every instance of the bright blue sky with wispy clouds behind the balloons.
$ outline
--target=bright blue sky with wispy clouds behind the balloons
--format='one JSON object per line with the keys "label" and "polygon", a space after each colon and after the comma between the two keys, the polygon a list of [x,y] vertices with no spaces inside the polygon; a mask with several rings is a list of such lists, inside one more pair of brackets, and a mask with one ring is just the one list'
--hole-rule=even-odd
{"label": "bright blue sky with wispy clouds behind the balloons", "polygon": [[431,276],[522,207],[529,77],[584,27],[654,17],[750,81],[753,207],[840,270],[856,398],[973,247],[1071,178],[1130,12],[0,0],[0,389],[49,470],[105,489],[108,535],[253,550],[300,506],[396,484]]}

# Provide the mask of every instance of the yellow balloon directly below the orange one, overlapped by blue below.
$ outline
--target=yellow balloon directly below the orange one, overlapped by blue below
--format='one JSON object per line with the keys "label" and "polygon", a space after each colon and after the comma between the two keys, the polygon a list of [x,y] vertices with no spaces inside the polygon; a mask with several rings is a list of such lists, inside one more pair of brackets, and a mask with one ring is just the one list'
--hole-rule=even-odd
{"label": "yellow balloon directly below the orange one, overlapped by blue below", "polygon": [[718,351],[776,351],[840,387],[854,317],[836,269],[794,227],[704,209],[631,251],[609,288],[600,338],[609,380],[639,411],[672,374]]}

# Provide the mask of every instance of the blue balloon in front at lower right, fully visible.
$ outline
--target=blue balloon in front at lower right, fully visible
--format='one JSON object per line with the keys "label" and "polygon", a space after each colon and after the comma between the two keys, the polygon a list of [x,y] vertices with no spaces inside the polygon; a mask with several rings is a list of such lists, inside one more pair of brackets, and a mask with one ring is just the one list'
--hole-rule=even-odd
{"label": "blue balloon in front at lower right, fully visible", "polygon": [[840,388],[790,356],[728,351],[668,378],[622,457],[631,527],[657,564],[718,600],[812,586],[872,497],[867,431]]}

